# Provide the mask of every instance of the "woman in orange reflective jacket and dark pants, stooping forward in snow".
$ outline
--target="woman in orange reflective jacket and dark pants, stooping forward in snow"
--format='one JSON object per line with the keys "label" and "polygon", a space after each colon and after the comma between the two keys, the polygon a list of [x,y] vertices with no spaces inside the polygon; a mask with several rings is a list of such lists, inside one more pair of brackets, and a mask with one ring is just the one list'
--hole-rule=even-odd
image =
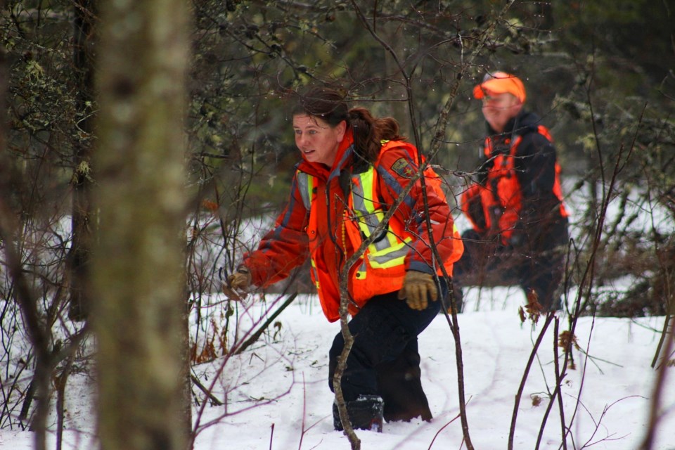
{"label": "woman in orange reflective jacket and dark pants, stooping forward in snow", "polygon": [[[288,205],[257,250],[244,255],[229,287],[276,283],[309,257],[323,313],[333,322],[346,276],[354,345],[341,387],[352,426],[381,431],[383,418],[430,420],[417,337],[437,315],[444,274],[463,251],[440,179],[427,168],[420,180],[417,149],[399,136],[394,119],[349,110],[333,89],[300,97],[293,130],[302,161]],[[346,267],[364,240],[370,244]],[[342,347],[338,333],[329,352],[331,390]],[[335,406],[333,418],[341,430]]]}

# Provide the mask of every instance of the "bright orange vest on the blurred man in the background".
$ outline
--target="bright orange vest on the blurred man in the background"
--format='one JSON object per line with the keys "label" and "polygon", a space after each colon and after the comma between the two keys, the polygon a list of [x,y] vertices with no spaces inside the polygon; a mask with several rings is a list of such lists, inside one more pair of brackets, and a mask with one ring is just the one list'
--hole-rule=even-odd
{"label": "bright orange vest on the blurred man in the background", "polygon": [[[536,127],[536,133],[553,142],[551,134],[543,125]],[[489,233],[491,236],[501,233],[502,243],[508,243],[513,231],[520,221],[522,210],[522,188],[515,169],[516,153],[522,142],[522,134],[513,139],[506,139],[510,144],[508,153],[496,153],[493,141],[488,136],[485,139],[484,155],[491,160],[491,167],[487,171],[487,181],[484,184],[473,184],[461,197],[461,209],[471,221],[473,228],[479,233]],[[560,188],[560,165],[555,162],[555,180],[553,194],[560,200],[560,216],[569,214],[563,205],[563,190]],[[481,207],[475,207],[479,202]],[[480,213],[477,213],[480,209]]]}

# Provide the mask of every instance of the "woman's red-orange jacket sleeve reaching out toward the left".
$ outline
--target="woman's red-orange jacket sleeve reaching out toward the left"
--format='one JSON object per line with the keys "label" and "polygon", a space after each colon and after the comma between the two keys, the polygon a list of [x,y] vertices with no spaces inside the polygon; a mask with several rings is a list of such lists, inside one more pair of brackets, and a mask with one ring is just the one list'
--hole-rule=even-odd
{"label": "woman's red-orange jacket sleeve reaching out toward the left", "polygon": [[266,233],[257,250],[243,257],[243,264],[251,271],[252,282],[266,287],[290,275],[295,267],[307,259],[307,209],[293,177],[288,205],[276,219],[274,229]]}

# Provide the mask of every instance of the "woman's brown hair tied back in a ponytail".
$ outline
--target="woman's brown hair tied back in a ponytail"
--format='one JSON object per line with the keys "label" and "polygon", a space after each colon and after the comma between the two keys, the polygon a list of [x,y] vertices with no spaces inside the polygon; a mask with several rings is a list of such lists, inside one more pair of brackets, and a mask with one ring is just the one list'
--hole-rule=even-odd
{"label": "woman's brown hair tied back in a ponytail", "polygon": [[393,117],[375,118],[366,108],[348,109],[345,96],[335,89],[317,87],[307,91],[293,108],[293,115],[300,114],[320,117],[330,127],[345,120],[354,134],[356,155],[371,163],[380,155],[381,141],[406,139],[399,134],[399,122]]}

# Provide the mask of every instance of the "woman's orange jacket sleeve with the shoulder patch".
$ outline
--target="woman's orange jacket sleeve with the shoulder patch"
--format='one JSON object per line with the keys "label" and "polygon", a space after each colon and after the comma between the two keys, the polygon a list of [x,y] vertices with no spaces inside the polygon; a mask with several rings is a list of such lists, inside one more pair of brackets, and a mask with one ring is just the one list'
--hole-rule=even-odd
{"label": "woman's orange jacket sleeve with the shoulder patch", "polygon": [[[411,178],[418,172],[418,161],[413,160],[406,148],[392,148],[380,158],[380,195],[383,203],[392,205]],[[432,243],[444,262],[454,262],[461,256],[454,236],[454,221],[450,207],[441,189],[441,180],[435,172],[425,170],[424,188],[421,180],[415,182],[410,193],[394,213],[416,240],[406,257],[406,269],[432,274],[439,264],[434,264]],[[428,229],[427,219],[431,224]],[[454,250],[459,250],[454,252]]]}

